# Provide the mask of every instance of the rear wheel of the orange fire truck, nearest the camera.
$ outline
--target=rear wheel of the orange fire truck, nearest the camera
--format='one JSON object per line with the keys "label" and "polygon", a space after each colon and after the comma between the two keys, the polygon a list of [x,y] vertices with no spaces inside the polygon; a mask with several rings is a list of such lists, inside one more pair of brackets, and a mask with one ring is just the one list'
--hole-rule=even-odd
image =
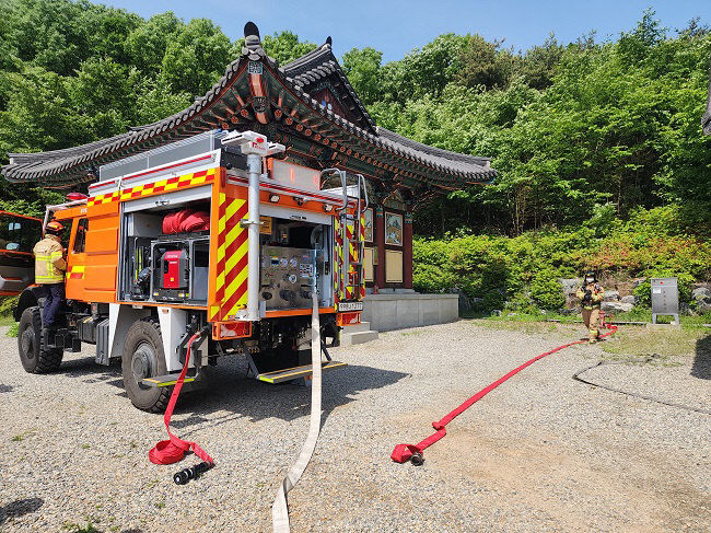
{"label": "rear wheel of the orange fire truck, nearest the camera", "polygon": [[124,387],[135,407],[149,413],[163,413],[171,397],[172,386],[147,386],[143,378],[167,373],[161,326],[152,320],[135,322],[126,334],[121,355]]}

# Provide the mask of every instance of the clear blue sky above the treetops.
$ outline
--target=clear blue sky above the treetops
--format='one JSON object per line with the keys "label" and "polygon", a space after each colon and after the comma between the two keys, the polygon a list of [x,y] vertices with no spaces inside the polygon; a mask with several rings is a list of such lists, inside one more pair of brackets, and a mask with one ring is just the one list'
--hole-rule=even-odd
{"label": "clear blue sky above the treetops", "polygon": [[616,38],[634,27],[646,8],[669,30],[683,28],[700,16],[711,25],[711,0],[476,0],[439,2],[361,0],[94,0],[141,16],[173,11],[186,22],[211,19],[232,39],[242,37],[253,21],[261,36],[290,30],[301,40],[334,40],[341,57],[351,48],[371,46],[384,61],[401,59],[443,33],[479,33],[487,39],[505,38],[515,51],[543,44],[553,32],[567,44],[591,30],[596,40]]}

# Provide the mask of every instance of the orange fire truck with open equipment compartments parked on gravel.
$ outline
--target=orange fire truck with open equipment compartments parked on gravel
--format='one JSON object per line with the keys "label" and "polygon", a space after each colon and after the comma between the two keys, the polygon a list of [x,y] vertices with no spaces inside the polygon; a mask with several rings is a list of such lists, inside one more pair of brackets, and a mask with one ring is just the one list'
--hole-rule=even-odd
{"label": "orange fire truck with open equipment compartments parked on gravel", "polygon": [[186,383],[207,382],[220,357],[245,357],[266,383],[308,381],[314,294],[322,368],[342,326],[360,323],[362,175],[283,160],[253,131],[212,130],[101,166],[89,195],[48,206],[68,228],[61,322],[42,325],[43,290],[19,299],[27,372],[59,368],[65,351],[96,347],[121,361],[139,409],[162,412],[193,345]]}

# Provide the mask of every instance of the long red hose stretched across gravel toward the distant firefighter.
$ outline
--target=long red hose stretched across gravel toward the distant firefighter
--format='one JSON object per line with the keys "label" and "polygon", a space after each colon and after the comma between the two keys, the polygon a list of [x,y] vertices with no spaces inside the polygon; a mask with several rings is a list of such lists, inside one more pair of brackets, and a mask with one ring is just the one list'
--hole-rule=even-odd
{"label": "long red hose stretched across gravel toward the distant firefighter", "polygon": [[[605,323],[604,322],[604,315],[601,316],[603,321],[603,327],[606,327],[609,329],[609,332],[603,334],[599,336],[599,338],[603,337],[608,337],[613,335],[615,332],[617,332],[617,326],[613,325],[611,323]],[[457,416],[459,416],[462,413],[467,410],[469,407],[471,407],[474,404],[476,404],[479,399],[485,397],[487,394],[489,394],[491,391],[493,391],[496,387],[498,387],[501,383],[504,381],[509,380],[510,378],[514,376],[518,372],[521,372],[523,369],[528,367],[529,364],[533,364],[536,362],[538,359],[543,359],[546,356],[550,356],[551,354],[555,354],[556,351],[560,351],[563,348],[568,348],[573,345],[579,345],[587,343],[587,340],[575,340],[574,343],[568,343],[566,345],[559,346],[557,348],[553,348],[550,351],[546,351],[545,354],[540,354],[539,356],[534,357],[529,361],[524,362],[521,367],[516,367],[513,369],[511,372],[509,372],[503,378],[498,379],[490,385],[487,385],[483,387],[481,391],[476,393],[474,396],[471,396],[469,399],[467,399],[465,403],[459,405],[456,409],[454,409],[452,413],[446,415],[444,418],[442,418],[439,421],[432,422],[432,427],[435,429],[435,432],[432,433],[430,437],[424,439],[423,441],[419,442],[418,444],[397,444],[395,449],[393,450],[393,453],[391,454],[391,459],[395,461],[396,463],[406,463],[413,456],[417,459],[413,459],[412,462],[413,464],[422,464],[422,451],[426,450],[427,448],[431,447],[438,440],[440,440],[442,437],[446,434],[446,428],[445,426],[450,424],[452,420],[454,420]]]}

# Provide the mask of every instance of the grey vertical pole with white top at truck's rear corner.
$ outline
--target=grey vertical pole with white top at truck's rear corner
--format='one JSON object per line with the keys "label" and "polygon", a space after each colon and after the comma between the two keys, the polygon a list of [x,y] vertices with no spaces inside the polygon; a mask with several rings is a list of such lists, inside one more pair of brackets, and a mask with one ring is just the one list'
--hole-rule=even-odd
{"label": "grey vertical pole with white top at truck's rear corner", "polygon": [[268,142],[264,135],[254,131],[231,131],[222,139],[223,146],[238,146],[247,157],[249,170],[249,192],[247,206],[249,216],[242,220],[242,225],[248,228],[249,247],[247,251],[247,316],[248,321],[258,321],[259,316],[259,178],[261,177],[261,159],[281,153],[283,144]]}

